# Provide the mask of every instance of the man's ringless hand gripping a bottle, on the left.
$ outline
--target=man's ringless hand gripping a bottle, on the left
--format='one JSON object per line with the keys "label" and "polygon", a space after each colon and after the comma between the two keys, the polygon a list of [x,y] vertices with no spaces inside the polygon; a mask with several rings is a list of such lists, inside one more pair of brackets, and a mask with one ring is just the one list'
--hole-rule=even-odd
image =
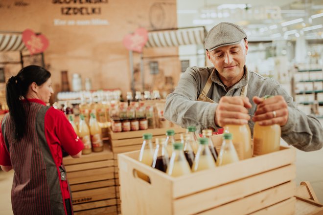
{"label": "man's ringless hand gripping a bottle, on the left", "polygon": [[225,125],[243,125],[250,120],[248,109],[252,105],[247,97],[224,96],[220,99],[215,110],[215,125],[223,127]]}

